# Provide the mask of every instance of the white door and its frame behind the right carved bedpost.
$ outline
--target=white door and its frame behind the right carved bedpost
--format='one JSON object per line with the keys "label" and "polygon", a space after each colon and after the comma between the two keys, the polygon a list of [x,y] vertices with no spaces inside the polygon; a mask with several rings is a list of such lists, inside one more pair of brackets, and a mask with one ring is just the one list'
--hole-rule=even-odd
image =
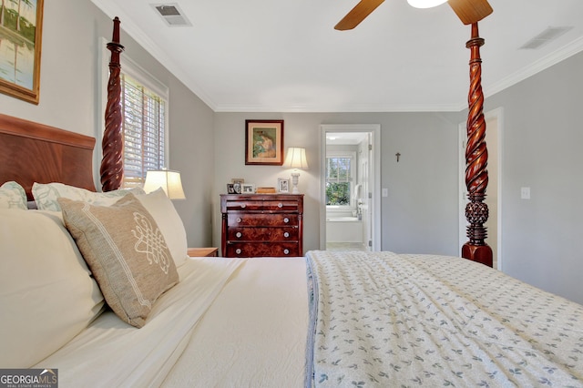
{"label": "white door and its frame behind the right carved bedpost", "polygon": [[[502,169],[502,152],[500,149],[502,130],[503,130],[503,109],[501,107],[486,112],[486,147],[488,149],[488,186],[486,188],[486,205],[489,210],[488,220],[486,221],[487,239],[486,243],[492,248],[493,267],[502,271],[503,260],[502,252],[502,227],[501,227],[501,206],[499,203],[501,192],[501,174]],[[459,246],[467,241],[465,220],[465,204],[467,203],[465,188],[465,145],[467,144],[467,135],[465,123],[459,125]],[[460,248],[461,249],[461,248]]]}

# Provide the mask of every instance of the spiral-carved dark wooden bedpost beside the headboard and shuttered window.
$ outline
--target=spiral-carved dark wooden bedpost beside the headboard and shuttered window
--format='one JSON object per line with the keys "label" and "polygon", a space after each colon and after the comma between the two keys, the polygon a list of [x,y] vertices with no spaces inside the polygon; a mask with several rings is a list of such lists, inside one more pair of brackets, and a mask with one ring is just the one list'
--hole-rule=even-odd
{"label": "spiral-carved dark wooden bedpost beside the headboard and shuttered window", "polygon": [[103,133],[101,147],[103,158],[101,159],[101,189],[111,191],[121,187],[124,176],[124,142],[121,131],[121,84],[119,74],[121,66],[119,55],[124,51],[124,46],[119,44],[119,19],[113,20],[113,38],[107,44],[111,51],[109,62],[109,80],[107,82],[107,107],[105,113],[106,128]]}

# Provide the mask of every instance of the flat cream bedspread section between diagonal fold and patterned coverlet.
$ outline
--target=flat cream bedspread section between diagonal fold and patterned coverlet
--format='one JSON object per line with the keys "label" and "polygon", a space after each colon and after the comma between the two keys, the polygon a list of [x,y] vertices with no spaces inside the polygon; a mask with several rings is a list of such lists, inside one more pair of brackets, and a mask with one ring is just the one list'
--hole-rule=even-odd
{"label": "flat cream bedspread section between diagonal fold and patterned coverlet", "polygon": [[253,258],[201,320],[168,387],[302,387],[308,332],[304,258]]}

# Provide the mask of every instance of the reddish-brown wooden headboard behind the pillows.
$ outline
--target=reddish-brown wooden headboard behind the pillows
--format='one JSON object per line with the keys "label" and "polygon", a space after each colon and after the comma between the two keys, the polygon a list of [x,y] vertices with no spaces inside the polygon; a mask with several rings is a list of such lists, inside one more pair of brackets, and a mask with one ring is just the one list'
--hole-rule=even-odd
{"label": "reddish-brown wooden headboard behind the pillows", "polygon": [[0,114],[0,185],[15,180],[33,200],[34,182],[95,191],[95,138]]}

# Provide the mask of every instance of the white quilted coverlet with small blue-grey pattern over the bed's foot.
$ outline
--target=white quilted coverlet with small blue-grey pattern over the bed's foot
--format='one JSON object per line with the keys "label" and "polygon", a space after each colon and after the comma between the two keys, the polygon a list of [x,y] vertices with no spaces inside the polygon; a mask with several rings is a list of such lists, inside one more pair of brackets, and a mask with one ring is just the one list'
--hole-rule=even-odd
{"label": "white quilted coverlet with small blue-grey pattern over the bed's foot", "polygon": [[307,260],[307,386],[583,386],[577,303],[459,258]]}

